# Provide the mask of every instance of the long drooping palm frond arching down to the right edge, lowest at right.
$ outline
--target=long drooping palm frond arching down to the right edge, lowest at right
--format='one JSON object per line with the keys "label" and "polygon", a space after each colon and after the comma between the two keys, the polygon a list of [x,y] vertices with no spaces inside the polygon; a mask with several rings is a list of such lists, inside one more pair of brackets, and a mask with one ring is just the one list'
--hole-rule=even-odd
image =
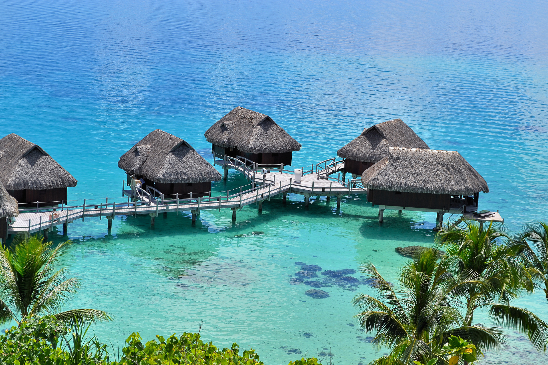
{"label": "long drooping palm frond arching down to the right edge, lowest at right", "polygon": [[507,326],[525,333],[537,350],[546,351],[548,325],[533,312],[515,306],[493,304],[489,315],[496,325]]}

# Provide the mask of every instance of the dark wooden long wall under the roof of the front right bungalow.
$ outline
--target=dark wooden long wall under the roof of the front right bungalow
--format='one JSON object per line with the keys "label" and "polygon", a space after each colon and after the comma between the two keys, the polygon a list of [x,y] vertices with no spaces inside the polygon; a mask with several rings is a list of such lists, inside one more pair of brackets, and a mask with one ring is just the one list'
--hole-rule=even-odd
{"label": "dark wooden long wall under the roof of the front right bungalow", "polygon": [[373,205],[392,205],[409,208],[449,210],[451,195],[427,193],[399,193],[389,190],[367,190],[367,201]]}

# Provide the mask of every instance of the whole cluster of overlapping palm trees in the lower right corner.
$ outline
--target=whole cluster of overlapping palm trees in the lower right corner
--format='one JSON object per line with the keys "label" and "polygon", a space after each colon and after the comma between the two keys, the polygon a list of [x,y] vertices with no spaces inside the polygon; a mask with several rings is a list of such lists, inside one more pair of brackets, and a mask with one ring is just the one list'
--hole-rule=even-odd
{"label": "whole cluster of overlapping palm trees in the lower right corner", "polygon": [[[458,354],[469,363],[485,350],[504,348],[501,327],[521,331],[536,349],[546,351],[548,325],[512,301],[535,288],[546,289],[547,227],[530,224],[509,235],[493,223],[485,228],[470,221],[447,225],[435,238],[446,254],[438,260],[437,250],[422,251],[403,266],[396,289],[373,264],[363,265],[376,295],[359,294],[353,300],[359,324],[376,333],[374,344],[391,348],[372,363],[452,363],[457,354],[451,355],[448,346],[458,339],[473,346]],[[497,327],[474,323],[474,312],[482,308]]]}

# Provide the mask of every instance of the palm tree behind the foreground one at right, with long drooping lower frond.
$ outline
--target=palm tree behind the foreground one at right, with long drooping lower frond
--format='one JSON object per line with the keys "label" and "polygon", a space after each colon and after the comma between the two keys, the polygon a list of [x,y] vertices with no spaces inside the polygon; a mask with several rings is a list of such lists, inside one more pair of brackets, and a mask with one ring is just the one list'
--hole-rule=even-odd
{"label": "palm tree behind the foreground one at right, with long drooping lower frond", "polygon": [[505,245],[503,237],[508,236],[500,224],[482,229],[471,221],[447,225],[436,234],[436,242],[448,246],[448,256],[455,258],[453,273],[469,271],[482,281],[461,293],[466,300],[463,326],[471,326],[476,309],[488,308],[494,323],[526,333],[537,350],[546,351],[548,325],[533,312],[510,305],[534,286],[516,250]]}

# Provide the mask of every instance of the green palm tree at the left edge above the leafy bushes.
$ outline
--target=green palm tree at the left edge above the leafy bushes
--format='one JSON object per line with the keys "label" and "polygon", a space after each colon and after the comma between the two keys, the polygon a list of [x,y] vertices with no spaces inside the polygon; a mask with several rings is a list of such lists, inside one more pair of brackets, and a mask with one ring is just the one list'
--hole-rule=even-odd
{"label": "green palm tree at the left edge above the leafy bushes", "polygon": [[[0,248],[0,323],[61,310],[78,289],[78,279],[66,278],[66,268],[55,270],[70,241],[52,248],[42,236],[18,235],[14,248]],[[54,314],[67,325],[110,321],[112,317],[95,309],[73,309]]]}

